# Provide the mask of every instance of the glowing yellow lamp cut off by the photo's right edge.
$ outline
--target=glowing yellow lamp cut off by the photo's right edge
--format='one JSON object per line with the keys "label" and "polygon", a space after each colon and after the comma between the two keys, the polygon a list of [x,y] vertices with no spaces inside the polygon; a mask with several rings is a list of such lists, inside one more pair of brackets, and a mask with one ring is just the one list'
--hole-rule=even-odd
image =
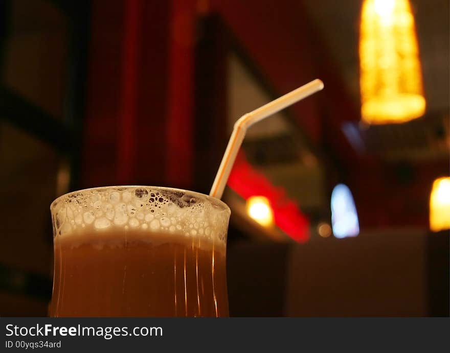
{"label": "glowing yellow lamp cut off by the photo's right edge", "polygon": [[430,195],[430,229],[450,228],[450,177],[436,179]]}

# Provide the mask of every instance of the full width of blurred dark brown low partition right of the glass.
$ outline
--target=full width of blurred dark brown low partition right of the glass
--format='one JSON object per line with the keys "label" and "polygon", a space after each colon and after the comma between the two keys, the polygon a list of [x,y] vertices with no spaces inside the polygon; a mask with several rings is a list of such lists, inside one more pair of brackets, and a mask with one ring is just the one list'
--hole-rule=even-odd
{"label": "full width of blurred dark brown low partition right of the glass", "polygon": [[305,244],[236,242],[227,254],[230,314],[448,316],[448,255],[428,251],[431,237],[411,228]]}

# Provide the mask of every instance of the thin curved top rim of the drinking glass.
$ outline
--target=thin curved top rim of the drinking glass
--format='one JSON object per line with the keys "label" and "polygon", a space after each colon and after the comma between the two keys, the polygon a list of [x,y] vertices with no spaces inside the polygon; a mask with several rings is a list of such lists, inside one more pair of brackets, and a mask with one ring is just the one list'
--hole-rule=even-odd
{"label": "thin curved top rim of the drinking glass", "polygon": [[200,198],[201,200],[208,200],[212,204],[220,206],[223,210],[228,210],[228,212],[231,213],[230,207],[226,203],[224,203],[222,200],[220,200],[220,199],[218,199],[218,198],[216,198],[214,196],[210,196],[210,195],[206,195],[206,194],[202,194],[202,193],[198,193],[196,191],[191,191],[191,190],[186,190],[186,189],[177,189],[176,187],[150,186],[150,185],[111,185],[111,186],[88,187],[87,189],[80,189],[80,190],[71,191],[70,193],[63,194],[63,195],[57,197],[55,200],[53,200],[52,203],[50,204],[50,211],[53,211],[55,206],[61,200],[65,199],[65,198],[68,198],[68,197],[71,197],[72,195],[75,195],[77,193],[89,192],[89,191],[103,191],[103,190],[107,190],[107,189],[135,189],[135,188],[138,188],[138,187],[143,187],[143,188],[146,188],[146,189],[157,189],[157,190],[171,191],[171,192],[181,192],[181,193],[184,193],[184,194],[192,195],[194,197]]}

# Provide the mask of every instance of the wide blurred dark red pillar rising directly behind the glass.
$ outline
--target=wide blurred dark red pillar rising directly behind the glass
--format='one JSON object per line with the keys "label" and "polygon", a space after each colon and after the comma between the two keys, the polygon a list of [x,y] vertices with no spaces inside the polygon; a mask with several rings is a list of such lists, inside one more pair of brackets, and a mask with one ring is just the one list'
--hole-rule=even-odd
{"label": "wide blurred dark red pillar rising directly behind the glass", "polygon": [[195,2],[92,4],[81,187],[192,186]]}

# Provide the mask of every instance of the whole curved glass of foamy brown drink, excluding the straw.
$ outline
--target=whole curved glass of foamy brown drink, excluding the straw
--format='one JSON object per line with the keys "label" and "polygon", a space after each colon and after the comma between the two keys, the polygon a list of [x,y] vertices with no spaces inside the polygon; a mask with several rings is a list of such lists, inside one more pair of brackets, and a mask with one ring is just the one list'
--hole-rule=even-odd
{"label": "whole curved glass of foamy brown drink, excluding the straw", "polygon": [[195,192],[110,186],[51,207],[53,317],[228,316],[230,208]]}

